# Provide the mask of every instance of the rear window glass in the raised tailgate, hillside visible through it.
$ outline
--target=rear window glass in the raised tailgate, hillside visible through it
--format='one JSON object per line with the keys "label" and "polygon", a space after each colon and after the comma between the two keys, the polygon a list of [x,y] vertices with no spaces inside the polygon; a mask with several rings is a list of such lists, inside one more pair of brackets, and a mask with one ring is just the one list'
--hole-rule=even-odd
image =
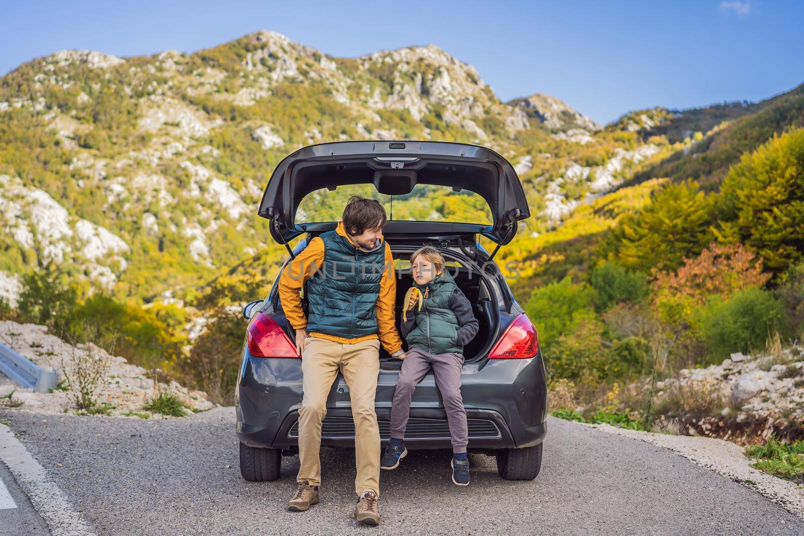
{"label": "rear window glass in the raised tailgate, hillside visible through it", "polygon": [[352,195],[376,199],[392,221],[475,223],[491,225],[494,219],[486,199],[450,186],[417,184],[410,194],[380,194],[373,184],[347,184],[335,190],[314,190],[301,199],[295,223],[337,222]]}

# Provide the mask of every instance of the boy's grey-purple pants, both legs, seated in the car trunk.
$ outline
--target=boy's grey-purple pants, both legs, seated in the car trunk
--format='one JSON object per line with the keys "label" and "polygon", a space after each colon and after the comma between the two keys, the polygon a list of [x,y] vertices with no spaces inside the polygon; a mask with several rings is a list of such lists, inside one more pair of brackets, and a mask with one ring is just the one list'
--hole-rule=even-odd
{"label": "boy's grey-purple pants, both legs, seated in the car trunk", "polygon": [[461,398],[461,366],[463,356],[456,352],[449,354],[430,354],[425,350],[412,348],[402,362],[400,378],[396,382],[394,401],[391,407],[391,437],[404,439],[404,429],[408,426],[410,401],[416,384],[425,377],[433,366],[436,387],[444,400],[447,412],[449,435],[452,436],[453,452],[466,452],[469,444],[469,430],[466,427],[466,410]]}

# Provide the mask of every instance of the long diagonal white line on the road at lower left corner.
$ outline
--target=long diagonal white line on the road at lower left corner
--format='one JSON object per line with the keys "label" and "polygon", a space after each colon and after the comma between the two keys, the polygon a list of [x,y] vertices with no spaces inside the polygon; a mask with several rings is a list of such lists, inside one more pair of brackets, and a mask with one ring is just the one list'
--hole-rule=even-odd
{"label": "long diagonal white line on the road at lower left corner", "polygon": [[0,460],[31,499],[53,536],[95,535],[84,516],[73,508],[64,492],[47,477],[44,468],[5,424],[0,424]]}

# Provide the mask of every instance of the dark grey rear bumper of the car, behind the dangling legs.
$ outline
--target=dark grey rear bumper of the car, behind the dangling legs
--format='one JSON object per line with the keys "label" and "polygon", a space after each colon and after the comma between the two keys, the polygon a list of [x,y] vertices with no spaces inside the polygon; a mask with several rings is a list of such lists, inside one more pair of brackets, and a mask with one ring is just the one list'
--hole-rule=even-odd
{"label": "dark grey rear bumper of the car, behind the dangling legs", "polygon": [[[301,362],[244,356],[236,394],[238,439],[256,448],[297,448],[294,425],[301,407]],[[279,380],[279,378],[282,378]],[[391,399],[396,371],[381,370],[376,413],[380,439],[390,436]],[[467,364],[461,395],[470,419],[469,448],[522,448],[544,440],[547,385],[541,355]],[[408,448],[450,448],[446,413],[432,373],[416,387],[405,434]],[[348,386],[338,375],[327,399],[322,445],[354,447]]]}

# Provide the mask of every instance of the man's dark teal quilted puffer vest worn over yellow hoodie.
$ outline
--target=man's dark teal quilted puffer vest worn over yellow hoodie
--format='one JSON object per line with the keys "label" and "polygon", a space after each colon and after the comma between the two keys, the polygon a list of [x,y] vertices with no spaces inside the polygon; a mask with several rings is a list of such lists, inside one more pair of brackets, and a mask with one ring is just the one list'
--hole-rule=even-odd
{"label": "man's dark teal quilted puffer vest worn over yellow hoodie", "polygon": [[307,331],[358,338],[378,332],[375,306],[383,277],[385,243],[355,248],[336,231],[322,233],[324,263],[307,280]]}

